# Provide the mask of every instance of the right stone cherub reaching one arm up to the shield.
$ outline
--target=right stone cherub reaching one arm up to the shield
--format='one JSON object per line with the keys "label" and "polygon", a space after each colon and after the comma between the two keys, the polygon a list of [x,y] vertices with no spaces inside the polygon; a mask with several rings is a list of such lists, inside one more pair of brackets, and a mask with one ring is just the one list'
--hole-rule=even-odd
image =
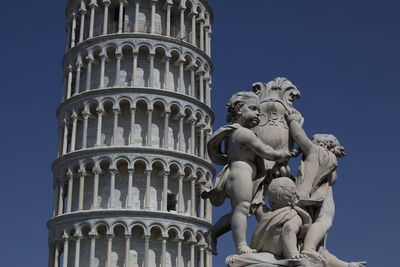
{"label": "right stone cherub reaching one arm up to the shield", "polygon": [[[365,266],[365,262],[345,263],[337,260],[321,246],[335,215],[332,186],[337,180],[337,158],[345,155],[343,146],[330,134],[316,134],[310,140],[302,128],[302,116],[297,111],[289,112],[286,119],[290,133],[303,153],[297,175],[299,205],[307,207],[313,219],[301,253],[322,261],[331,261],[333,267]],[[320,253],[319,248],[322,249]]]}

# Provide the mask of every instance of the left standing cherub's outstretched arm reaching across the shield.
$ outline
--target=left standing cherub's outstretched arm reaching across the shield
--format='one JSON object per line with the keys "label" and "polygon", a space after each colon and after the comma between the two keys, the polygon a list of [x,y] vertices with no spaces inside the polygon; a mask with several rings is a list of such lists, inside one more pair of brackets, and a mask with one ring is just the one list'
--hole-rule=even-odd
{"label": "left standing cherub's outstretched arm reaching across the shield", "polygon": [[272,147],[264,144],[256,135],[249,129],[241,129],[240,142],[248,147],[251,151],[267,160],[289,160],[290,153],[286,151],[276,151]]}

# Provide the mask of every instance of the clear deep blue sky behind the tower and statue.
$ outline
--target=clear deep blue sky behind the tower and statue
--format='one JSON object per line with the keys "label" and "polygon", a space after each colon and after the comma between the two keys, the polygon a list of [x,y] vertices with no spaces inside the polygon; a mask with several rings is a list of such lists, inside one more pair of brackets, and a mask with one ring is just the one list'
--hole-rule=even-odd
{"label": "clear deep blue sky behind the tower and statue", "polygon": [[[239,90],[289,78],[305,129],[346,147],[334,187],[328,248],[346,260],[393,266],[400,251],[400,2],[211,0],[214,129]],[[0,17],[1,266],[46,266],[61,99],[66,1],[5,1]],[[229,205],[214,210],[214,219]],[[249,225],[249,233],[254,224]],[[220,240],[214,266],[234,253]]]}

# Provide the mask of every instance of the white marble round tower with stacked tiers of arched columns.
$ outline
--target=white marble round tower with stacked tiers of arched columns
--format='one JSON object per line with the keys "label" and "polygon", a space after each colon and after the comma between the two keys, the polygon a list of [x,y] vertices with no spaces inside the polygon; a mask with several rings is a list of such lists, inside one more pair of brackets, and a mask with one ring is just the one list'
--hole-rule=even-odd
{"label": "white marble round tower with stacked tiers of arched columns", "polygon": [[51,267],[211,267],[207,0],[69,0]]}

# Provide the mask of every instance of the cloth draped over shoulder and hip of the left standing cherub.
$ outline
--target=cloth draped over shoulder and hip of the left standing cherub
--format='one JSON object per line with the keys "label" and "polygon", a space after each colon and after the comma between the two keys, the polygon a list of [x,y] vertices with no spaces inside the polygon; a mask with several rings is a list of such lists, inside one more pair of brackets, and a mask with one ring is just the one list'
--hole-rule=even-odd
{"label": "cloth draped over shoulder and hip of the left standing cherub", "polygon": [[[226,181],[230,174],[229,169],[229,157],[227,153],[227,141],[232,133],[237,130],[243,128],[238,123],[234,123],[232,125],[225,125],[219,128],[214,135],[210,138],[207,143],[207,151],[210,159],[218,164],[224,165],[222,171],[216,176],[215,183],[213,189],[207,192],[205,195],[210,199],[210,202],[213,206],[219,207],[221,206],[225,198],[227,198],[227,194],[225,191]],[[225,143],[224,143],[225,142]],[[223,144],[225,144],[223,146]],[[223,149],[224,147],[224,149]],[[265,171],[263,171],[263,160],[260,157],[256,157],[256,165],[257,165],[257,175],[256,178],[253,179],[253,200],[250,209],[250,214],[253,214],[258,205],[264,203],[264,180],[265,180]],[[249,215],[250,215],[249,214]]]}

